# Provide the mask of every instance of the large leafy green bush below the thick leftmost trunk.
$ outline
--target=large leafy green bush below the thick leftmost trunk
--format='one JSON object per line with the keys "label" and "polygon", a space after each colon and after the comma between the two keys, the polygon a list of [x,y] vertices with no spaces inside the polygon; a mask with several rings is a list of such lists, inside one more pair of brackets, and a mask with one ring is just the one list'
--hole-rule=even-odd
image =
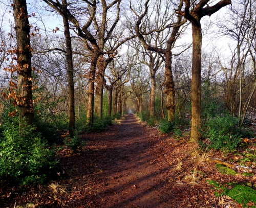
{"label": "large leafy green bush below the thick leftmost trunk", "polygon": [[56,172],[55,150],[41,143],[35,128],[7,124],[0,144],[0,178],[20,185],[42,183]]}

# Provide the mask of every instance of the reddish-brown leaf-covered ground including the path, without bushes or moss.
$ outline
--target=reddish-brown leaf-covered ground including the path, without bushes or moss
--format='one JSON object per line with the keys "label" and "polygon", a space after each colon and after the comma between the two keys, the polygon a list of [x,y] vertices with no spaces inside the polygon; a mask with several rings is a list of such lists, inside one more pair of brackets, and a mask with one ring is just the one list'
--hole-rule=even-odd
{"label": "reddish-brown leaf-covered ground including the path, without bushes or moss", "polygon": [[[208,180],[256,184],[255,172],[253,176],[221,174],[214,163],[203,161],[198,147],[188,143],[188,133],[180,138],[160,134],[134,114],[82,137],[87,141],[82,152],[58,153],[65,177],[35,187],[0,187],[0,206],[242,207],[227,196],[216,197],[217,190]],[[233,156],[209,154],[224,160]]]}

